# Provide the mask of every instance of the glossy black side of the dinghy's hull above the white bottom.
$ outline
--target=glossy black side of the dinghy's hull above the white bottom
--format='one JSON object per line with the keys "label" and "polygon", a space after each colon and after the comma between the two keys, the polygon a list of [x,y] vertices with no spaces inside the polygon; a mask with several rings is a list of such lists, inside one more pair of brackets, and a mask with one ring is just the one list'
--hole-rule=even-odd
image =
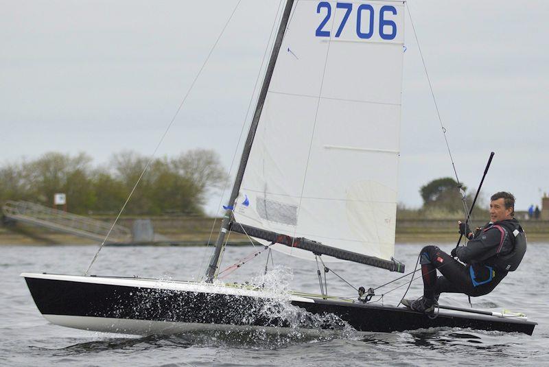
{"label": "glossy black side of the dinghy's hull above the white bottom", "polygon": [[[91,316],[127,320],[230,324],[255,327],[295,327],[283,315],[282,301],[253,296],[186,292],[78,281],[25,277],[36,306],[45,315]],[[535,322],[491,316],[442,312],[430,319],[404,308],[314,299],[292,305],[318,316],[334,314],[357,331],[392,332],[429,327],[460,327],[521,332],[531,335]],[[306,318],[305,318],[306,319]],[[299,324],[303,328],[337,328],[327,322]],[[322,321],[322,320],[321,320]]]}

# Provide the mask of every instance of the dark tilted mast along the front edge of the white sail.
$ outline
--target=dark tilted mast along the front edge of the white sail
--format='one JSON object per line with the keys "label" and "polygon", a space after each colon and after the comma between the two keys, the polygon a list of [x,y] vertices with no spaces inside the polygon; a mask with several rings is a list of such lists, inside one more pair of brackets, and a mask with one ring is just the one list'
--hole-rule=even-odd
{"label": "dark tilted mast along the front edge of the white sail", "polygon": [[270,80],[272,78],[272,73],[274,71],[274,64],[276,64],[277,62],[277,57],[279,55],[280,47],[282,45],[282,40],[284,38],[284,33],[288,25],[288,20],[290,19],[290,13],[292,12],[293,5],[294,5],[294,0],[286,1],[280,27],[277,33],[277,38],[276,40],[274,40],[274,47],[272,49],[272,54],[270,56],[269,64],[266,70],[265,79],[263,81],[263,86],[261,86],[261,93],[259,93],[259,98],[257,99],[257,106],[255,107],[253,120],[252,120],[252,123],[250,124],[250,130],[248,131],[248,137],[246,139],[246,144],[244,145],[244,151],[242,152],[240,165],[238,166],[237,175],[235,177],[235,183],[233,185],[233,191],[231,191],[231,197],[229,198],[229,203],[227,204],[229,209],[226,210],[225,215],[223,217],[218,239],[215,241],[215,250],[213,252],[213,255],[211,256],[210,263],[206,270],[207,282],[213,281],[219,269],[221,254],[224,250],[225,235],[229,231],[229,227],[231,224],[231,217],[233,215],[231,211],[231,207],[234,205],[234,202],[238,197],[238,193],[240,191],[240,185],[242,184],[242,178],[244,177],[244,171],[246,170],[246,163],[248,163],[248,157],[250,156],[250,150],[252,149],[253,139],[255,137],[255,131],[257,130],[257,124],[259,123],[259,118],[261,117],[261,111],[263,110],[264,102],[267,97]]}

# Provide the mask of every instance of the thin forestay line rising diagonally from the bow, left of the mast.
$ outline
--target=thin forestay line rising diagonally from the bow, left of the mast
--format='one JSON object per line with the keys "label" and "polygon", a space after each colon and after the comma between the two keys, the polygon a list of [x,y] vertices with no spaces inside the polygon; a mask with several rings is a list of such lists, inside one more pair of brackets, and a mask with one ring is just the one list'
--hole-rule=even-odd
{"label": "thin forestay line rising diagonally from the bow, left of the mast", "polygon": [[119,218],[120,218],[120,215],[122,214],[122,212],[124,212],[124,209],[126,209],[126,205],[128,204],[128,202],[130,201],[130,198],[132,197],[133,193],[135,192],[135,189],[137,189],[137,185],[139,185],[139,182],[141,182],[141,178],[143,178],[143,175],[145,174],[145,172],[147,171],[147,169],[149,168],[149,166],[151,165],[152,163],[152,160],[154,159],[154,156],[156,155],[156,152],[159,150],[159,147],[160,145],[162,144],[162,142],[164,141],[164,138],[166,137],[167,135],[167,132],[170,131],[170,128],[172,127],[174,121],[176,120],[176,117],[177,115],[179,114],[179,111],[181,110],[181,108],[183,107],[183,104],[185,104],[185,101],[187,100],[187,97],[189,97],[189,93],[191,93],[191,90],[193,89],[194,87],[194,84],[196,83],[196,81],[198,80],[198,77],[200,77],[200,74],[202,73],[202,70],[204,70],[208,60],[210,59],[210,56],[211,54],[213,54],[213,50],[215,49],[215,46],[218,45],[218,42],[219,40],[221,39],[221,36],[224,34],[225,32],[225,29],[227,27],[227,25],[229,25],[229,22],[231,21],[231,19],[233,19],[233,15],[235,14],[237,8],[238,8],[238,5],[240,5],[240,2],[242,0],[238,0],[238,2],[236,3],[235,5],[235,8],[233,9],[233,12],[231,12],[231,16],[229,16],[229,19],[227,19],[225,25],[223,26],[223,29],[221,30],[217,40],[215,40],[215,43],[213,44],[213,46],[211,47],[210,51],[209,51],[209,54],[208,56],[206,57],[206,60],[204,60],[204,62],[202,63],[202,66],[200,67],[200,69],[198,70],[198,73],[196,74],[193,82],[191,83],[191,86],[189,86],[189,88],[187,89],[187,93],[185,93],[185,96],[183,97],[183,99],[181,100],[181,103],[179,104],[177,110],[176,110],[176,113],[174,113],[174,117],[172,117],[172,120],[170,121],[170,123],[168,124],[167,128],[165,129],[164,133],[162,134],[162,137],[159,141],[158,144],[156,144],[156,147],[154,148],[154,151],[152,152],[150,158],[149,158],[149,161],[147,162],[147,165],[145,165],[145,168],[143,168],[143,171],[141,171],[141,175],[139,176],[139,178],[137,179],[137,182],[135,182],[135,185],[134,187],[132,188],[132,191],[130,192],[130,195],[128,196],[128,198],[126,199],[126,202],[124,202],[124,205],[122,205],[122,208],[120,209],[115,221],[113,222],[113,225],[110,227],[110,229],[108,230],[108,233],[107,235],[105,236],[105,239],[103,240],[102,244],[100,245],[99,249],[97,250],[97,252],[95,253],[95,256],[93,257],[93,260],[91,261],[88,269],[84,272],[84,275],[87,275],[88,272],[90,271],[91,269],[91,266],[93,265],[93,263],[95,263],[95,260],[97,259],[97,256],[99,255],[99,252],[101,251],[101,249],[103,248],[105,242],[107,241],[108,239],[108,236],[110,235],[110,232],[112,232],[113,228],[115,228],[115,225],[117,224]]}

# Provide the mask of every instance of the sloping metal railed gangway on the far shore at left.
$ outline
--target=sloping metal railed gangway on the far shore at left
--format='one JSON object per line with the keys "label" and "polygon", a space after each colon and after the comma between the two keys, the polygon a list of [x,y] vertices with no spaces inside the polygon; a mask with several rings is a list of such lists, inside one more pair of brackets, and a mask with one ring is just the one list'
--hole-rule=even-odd
{"label": "sloping metal railed gangway on the far shore at left", "polygon": [[[94,220],[82,215],[48,208],[34,202],[8,201],[2,208],[5,217],[35,226],[58,230],[80,237],[103,241],[110,226],[108,222]],[[124,226],[115,226],[110,232],[108,242],[129,242],[131,231]]]}

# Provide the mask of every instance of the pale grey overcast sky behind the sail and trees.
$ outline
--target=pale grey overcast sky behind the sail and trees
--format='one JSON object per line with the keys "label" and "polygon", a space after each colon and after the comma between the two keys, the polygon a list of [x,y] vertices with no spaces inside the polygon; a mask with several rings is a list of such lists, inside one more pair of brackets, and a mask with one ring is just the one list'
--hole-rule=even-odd
{"label": "pale grey overcast sky behind the sail and trees", "polygon": [[[367,2],[367,1],[362,1]],[[237,0],[0,1],[1,162],[159,142]],[[196,147],[229,168],[279,0],[242,0],[158,156]],[[549,191],[548,1],[410,0],[460,180]],[[454,176],[406,16],[399,201]],[[219,198],[208,204],[214,213]]]}

